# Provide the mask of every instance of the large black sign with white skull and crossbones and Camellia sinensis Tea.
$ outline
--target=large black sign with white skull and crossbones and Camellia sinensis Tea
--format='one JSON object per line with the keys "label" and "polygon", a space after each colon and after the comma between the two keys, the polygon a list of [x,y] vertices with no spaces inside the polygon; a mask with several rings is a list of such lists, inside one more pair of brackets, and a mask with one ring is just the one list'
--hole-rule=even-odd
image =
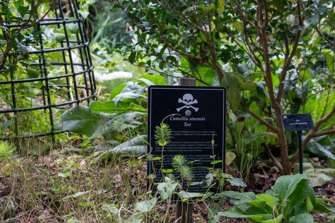
{"label": "large black sign with white skull and crossbones and Camellia sinensis Tea", "polygon": [[[200,86],[150,86],[148,89],[148,141],[153,147],[151,154],[160,157],[162,146],[155,143],[155,128],[166,118],[164,123],[172,129],[171,142],[164,146],[163,169],[172,168],[172,158],[181,154],[188,162],[193,163],[193,182],[204,181],[208,174],[206,168],[213,167],[210,164],[215,160],[223,160],[215,165],[225,171],[225,88],[200,87]],[[212,138],[214,135],[214,147]],[[148,146],[150,152],[150,146]],[[162,182],[160,161],[154,161],[156,178],[155,183]],[[148,175],[153,173],[152,163],[148,162]],[[172,174],[176,174],[175,171]],[[188,192],[206,193],[208,188],[202,188],[205,184],[187,186],[183,188]],[[217,192],[214,187],[212,192]],[[156,186],[153,188],[156,191]]]}

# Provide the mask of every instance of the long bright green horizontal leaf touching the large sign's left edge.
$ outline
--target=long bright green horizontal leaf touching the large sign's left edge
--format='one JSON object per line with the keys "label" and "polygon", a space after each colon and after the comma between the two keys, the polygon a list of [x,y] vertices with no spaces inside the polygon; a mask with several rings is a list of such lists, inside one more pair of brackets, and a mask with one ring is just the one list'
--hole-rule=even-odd
{"label": "long bright green horizontal leaf touching the large sign's left edge", "polygon": [[97,113],[123,113],[128,111],[147,112],[145,108],[135,103],[119,101],[115,107],[114,101],[91,101],[89,103],[91,112]]}

